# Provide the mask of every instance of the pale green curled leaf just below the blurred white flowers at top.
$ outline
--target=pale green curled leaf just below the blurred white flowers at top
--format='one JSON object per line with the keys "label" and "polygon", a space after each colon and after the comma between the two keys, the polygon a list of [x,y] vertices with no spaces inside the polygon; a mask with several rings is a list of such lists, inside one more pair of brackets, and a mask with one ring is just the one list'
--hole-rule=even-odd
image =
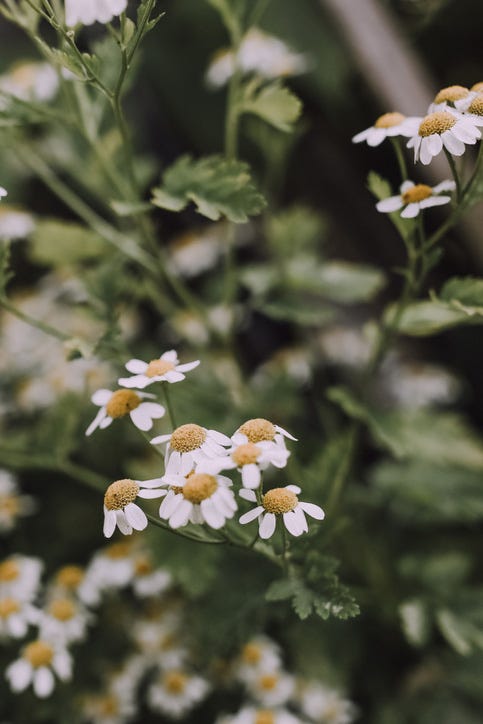
{"label": "pale green curled leaf just below the blurred white flowers at top", "polygon": [[300,118],[302,103],[280,81],[262,85],[259,79],[244,88],[241,112],[253,113],[279,131],[289,133]]}

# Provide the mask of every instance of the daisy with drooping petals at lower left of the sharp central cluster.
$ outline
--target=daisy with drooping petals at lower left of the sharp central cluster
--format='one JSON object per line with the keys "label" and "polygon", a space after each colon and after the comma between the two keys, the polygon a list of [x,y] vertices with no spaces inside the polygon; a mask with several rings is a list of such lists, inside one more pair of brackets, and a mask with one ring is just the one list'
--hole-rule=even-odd
{"label": "daisy with drooping petals at lower left of the sharp central cluster", "polygon": [[116,480],[104,495],[104,535],[110,538],[116,526],[124,535],[144,530],[148,524],[146,513],[134,502],[136,498],[160,498],[164,491],[159,478],[152,480]]}

